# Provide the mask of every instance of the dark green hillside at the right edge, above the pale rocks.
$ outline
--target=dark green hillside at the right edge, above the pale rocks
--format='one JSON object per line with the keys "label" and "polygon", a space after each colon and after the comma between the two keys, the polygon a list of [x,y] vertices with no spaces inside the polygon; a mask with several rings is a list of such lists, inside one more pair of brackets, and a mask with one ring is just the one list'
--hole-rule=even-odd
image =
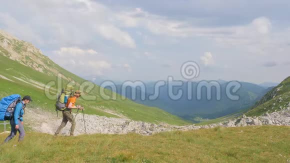
{"label": "dark green hillside at the right edge, above the pale rocks", "polygon": [[273,112],[289,107],[290,76],[268,91],[245,115],[258,116],[265,112]]}

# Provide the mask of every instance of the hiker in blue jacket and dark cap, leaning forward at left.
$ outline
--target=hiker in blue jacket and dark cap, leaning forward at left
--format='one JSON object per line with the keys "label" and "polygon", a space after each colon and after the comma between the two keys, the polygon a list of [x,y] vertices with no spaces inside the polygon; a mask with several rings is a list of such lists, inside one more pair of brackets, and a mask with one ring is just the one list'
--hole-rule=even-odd
{"label": "hiker in blue jacket and dark cap, leaning forward at left", "polygon": [[24,127],[23,127],[23,114],[24,114],[24,108],[25,105],[29,102],[31,102],[32,99],[29,95],[26,95],[22,98],[21,101],[19,101],[13,111],[12,118],[10,120],[11,125],[11,132],[7,136],[7,138],[4,140],[4,142],[8,142],[10,139],[12,139],[17,131],[19,132],[19,139],[18,141],[22,141],[25,135]]}

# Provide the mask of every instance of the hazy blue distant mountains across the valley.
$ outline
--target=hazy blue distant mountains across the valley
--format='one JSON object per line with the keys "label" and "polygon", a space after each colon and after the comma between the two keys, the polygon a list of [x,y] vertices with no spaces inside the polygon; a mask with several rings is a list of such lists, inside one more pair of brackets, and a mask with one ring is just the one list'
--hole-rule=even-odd
{"label": "hazy blue distant mountains across the valley", "polygon": [[[159,88],[159,95],[154,100],[148,99],[148,96],[154,93],[154,82],[145,83],[145,90],[142,90],[140,87],[127,86],[125,93],[122,92],[121,85],[117,85],[116,92],[125,95],[127,98],[137,103],[156,106],[184,119],[197,122],[197,117],[216,118],[247,109],[269,90],[269,88],[254,83],[240,82],[241,87],[235,93],[239,96],[239,99],[231,100],[225,93],[225,87],[228,81],[218,80],[218,83],[221,90],[220,100],[217,100],[217,92],[214,88],[211,88],[212,93],[210,100],[206,99],[206,88],[201,89],[200,100],[196,99],[196,91],[193,91],[192,99],[187,99],[187,85],[191,85],[192,90],[196,90],[198,85],[198,82],[191,81],[183,81],[182,86],[173,88],[174,94],[176,94],[178,90],[184,92],[180,99],[177,100],[171,99],[168,95],[168,83],[165,83],[164,86]],[[136,90],[135,98],[132,96],[132,88]],[[145,94],[145,100],[142,100],[141,93]]]}

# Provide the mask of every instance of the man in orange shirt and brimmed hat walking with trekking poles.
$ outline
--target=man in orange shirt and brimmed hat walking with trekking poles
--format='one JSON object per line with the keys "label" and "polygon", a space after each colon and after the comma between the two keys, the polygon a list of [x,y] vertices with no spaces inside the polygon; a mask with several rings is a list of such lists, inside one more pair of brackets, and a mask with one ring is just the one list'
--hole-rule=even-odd
{"label": "man in orange shirt and brimmed hat walking with trekking poles", "polygon": [[73,136],[73,131],[75,128],[75,119],[73,118],[71,109],[83,110],[83,107],[81,107],[80,105],[77,105],[77,106],[74,105],[76,98],[79,98],[80,94],[81,94],[81,92],[79,90],[76,90],[74,92],[74,95],[67,99],[66,108],[62,111],[62,122],[61,122],[60,126],[57,128],[56,132],[54,133],[55,136],[57,136],[58,133],[61,131],[61,129],[66,125],[67,121],[69,121],[71,123],[69,135]]}

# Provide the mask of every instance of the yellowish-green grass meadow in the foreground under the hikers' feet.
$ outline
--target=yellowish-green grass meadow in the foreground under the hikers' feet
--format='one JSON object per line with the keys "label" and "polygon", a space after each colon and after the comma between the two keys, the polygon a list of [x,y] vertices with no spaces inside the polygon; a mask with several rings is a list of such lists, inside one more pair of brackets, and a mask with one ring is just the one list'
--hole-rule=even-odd
{"label": "yellowish-green grass meadow in the foreground under the hikers' feet", "polygon": [[[242,131],[241,131],[242,130]],[[262,136],[261,136],[262,135]],[[4,139],[6,134],[1,134]],[[16,146],[13,146],[16,144]],[[0,146],[3,162],[286,162],[289,126],[52,137],[30,132]]]}

